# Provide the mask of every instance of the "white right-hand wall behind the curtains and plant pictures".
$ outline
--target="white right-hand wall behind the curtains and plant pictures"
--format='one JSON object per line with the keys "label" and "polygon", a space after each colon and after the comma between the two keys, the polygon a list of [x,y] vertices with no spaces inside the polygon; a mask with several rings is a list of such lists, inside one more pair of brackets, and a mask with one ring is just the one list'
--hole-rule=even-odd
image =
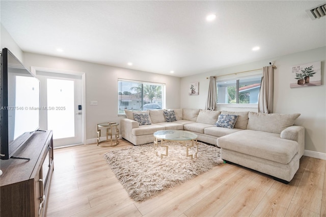
{"label": "white right-hand wall behind the curtains and plant pictures", "polygon": [[[314,152],[326,157],[326,88],[325,59],[326,47],[293,53],[291,55],[272,58],[264,61],[218,69],[211,72],[181,78],[181,107],[205,108],[209,79],[206,77],[247,71],[267,66],[270,61],[277,67],[274,71],[274,113],[300,113],[296,125],[306,128],[305,155]],[[321,61],[321,86],[290,88],[291,67],[300,64]],[[189,96],[188,85],[199,82],[199,95]],[[228,110],[228,108],[224,108]],[[235,108],[230,108],[235,110]],[[243,110],[243,109],[241,109]],[[249,109],[253,111],[252,109]],[[257,111],[254,109],[254,111]]]}

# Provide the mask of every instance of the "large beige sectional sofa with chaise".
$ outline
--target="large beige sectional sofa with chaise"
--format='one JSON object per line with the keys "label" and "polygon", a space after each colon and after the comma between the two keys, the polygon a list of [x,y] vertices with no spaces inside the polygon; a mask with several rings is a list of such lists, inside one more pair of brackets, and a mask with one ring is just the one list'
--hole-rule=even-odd
{"label": "large beige sectional sofa with chaise", "polygon": [[[166,110],[142,112],[126,110],[121,119],[122,137],[134,145],[152,143],[157,130],[187,130],[198,141],[217,145],[224,160],[289,182],[299,168],[305,149],[305,128],[295,126],[300,114],[261,114],[255,112],[208,111],[192,108],[173,109],[175,121],[166,122]],[[172,111],[172,110],[170,110]],[[140,125],[134,113],[146,120]],[[233,128],[215,126],[221,117],[235,117]],[[139,120],[138,120],[139,121]],[[171,120],[170,120],[171,121]]]}

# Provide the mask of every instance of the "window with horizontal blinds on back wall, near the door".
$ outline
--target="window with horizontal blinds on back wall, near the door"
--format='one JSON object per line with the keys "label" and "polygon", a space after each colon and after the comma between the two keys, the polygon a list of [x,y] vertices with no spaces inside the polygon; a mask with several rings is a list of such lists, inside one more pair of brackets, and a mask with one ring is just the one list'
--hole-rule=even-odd
{"label": "window with horizontal blinds on back wall, near the door", "polygon": [[165,84],[118,79],[119,114],[124,110],[161,109]]}

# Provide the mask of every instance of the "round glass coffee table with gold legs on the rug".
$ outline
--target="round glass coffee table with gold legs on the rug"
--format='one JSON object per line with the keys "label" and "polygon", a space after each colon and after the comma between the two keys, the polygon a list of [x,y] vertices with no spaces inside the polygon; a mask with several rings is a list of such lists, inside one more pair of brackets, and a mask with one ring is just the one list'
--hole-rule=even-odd
{"label": "round glass coffee table with gold legs on the rug", "polygon": [[[191,143],[186,144],[184,143],[186,147],[186,157],[191,157],[193,159],[193,154],[189,154],[189,148],[196,146],[196,153],[195,156],[197,158],[198,153],[198,142],[197,142],[197,135],[192,132],[183,131],[183,130],[158,130],[154,132],[154,151],[156,152],[156,156],[160,154],[161,159],[163,156],[168,156],[169,154],[169,145],[165,144],[165,141],[171,141],[171,142],[186,142],[191,141]],[[157,151],[158,145],[161,147],[165,147],[165,153],[159,153]]]}

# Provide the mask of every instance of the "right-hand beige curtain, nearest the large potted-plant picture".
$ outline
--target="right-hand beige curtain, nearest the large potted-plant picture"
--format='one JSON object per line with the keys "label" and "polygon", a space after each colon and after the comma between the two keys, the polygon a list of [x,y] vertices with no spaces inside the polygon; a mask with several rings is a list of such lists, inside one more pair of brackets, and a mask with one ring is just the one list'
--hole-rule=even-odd
{"label": "right-hand beige curtain, nearest the large potted-plant picture", "polygon": [[273,66],[264,66],[258,98],[258,112],[273,113],[273,97],[274,68]]}

